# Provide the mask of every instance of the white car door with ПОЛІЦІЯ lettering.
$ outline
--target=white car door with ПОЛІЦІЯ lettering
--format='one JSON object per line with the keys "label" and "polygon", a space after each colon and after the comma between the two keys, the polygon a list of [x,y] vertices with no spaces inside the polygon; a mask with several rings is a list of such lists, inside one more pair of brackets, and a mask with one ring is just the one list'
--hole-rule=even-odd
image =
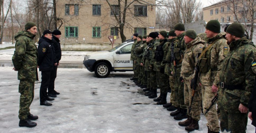
{"label": "white car door with \u041f\u041e\u041b\u0406\u0426\u0406\u042f lettering", "polygon": [[114,52],[114,70],[123,71],[123,70],[132,70],[132,61],[131,59],[131,47],[132,43],[120,48],[119,54]]}

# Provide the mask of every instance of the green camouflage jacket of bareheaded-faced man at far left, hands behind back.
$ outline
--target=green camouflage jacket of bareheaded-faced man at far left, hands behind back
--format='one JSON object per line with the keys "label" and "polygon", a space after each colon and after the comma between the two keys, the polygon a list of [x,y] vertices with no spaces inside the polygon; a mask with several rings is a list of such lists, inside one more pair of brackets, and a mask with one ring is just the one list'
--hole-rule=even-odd
{"label": "green camouflage jacket of bareheaded-faced man at far left, hands behind back", "polygon": [[18,70],[19,80],[28,80],[31,82],[38,80],[38,52],[37,46],[32,40],[34,37],[35,35],[27,31],[19,31],[14,36],[16,43],[12,62],[14,68]]}

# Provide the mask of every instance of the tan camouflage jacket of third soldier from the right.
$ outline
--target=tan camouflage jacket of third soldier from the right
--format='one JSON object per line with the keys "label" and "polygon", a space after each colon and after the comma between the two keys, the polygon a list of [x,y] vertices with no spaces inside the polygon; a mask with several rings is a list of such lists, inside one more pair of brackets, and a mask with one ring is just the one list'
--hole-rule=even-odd
{"label": "tan camouflage jacket of third soldier from the right", "polygon": [[[182,77],[189,77],[193,75],[196,62],[198,60],[198,53],[201,53],[203,46],[203,40],[199,37],[187,44],[181,66]],[[193,68],[191,68],[191,65],[193,65]]]}

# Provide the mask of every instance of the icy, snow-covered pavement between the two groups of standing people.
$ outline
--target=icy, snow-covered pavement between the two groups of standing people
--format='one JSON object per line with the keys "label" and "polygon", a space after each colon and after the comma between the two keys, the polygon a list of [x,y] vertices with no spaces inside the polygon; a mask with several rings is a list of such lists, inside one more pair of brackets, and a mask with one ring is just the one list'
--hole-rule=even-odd
{"label": "icy, snow-covered pavement between the two groups of standing people", "polygon": [[[86,69],[58,69],[55,88],[60,95],[49,101],[53,106],[40,106],[40,82],[35,83],[30,112],[39,116],[35,120],[38,125],[26,128],[18,127],[17,72],[12,67],[0,67],[0,132],[187,133],[162,105],[138,92],[139,87],[129,80],[132,74],[113,72],[108,78],[97,78]],[[191,133],[206,133],[206,122],[201,114],[199,130]],[[248,119],[247,133],[255,132],[251,122]]]}

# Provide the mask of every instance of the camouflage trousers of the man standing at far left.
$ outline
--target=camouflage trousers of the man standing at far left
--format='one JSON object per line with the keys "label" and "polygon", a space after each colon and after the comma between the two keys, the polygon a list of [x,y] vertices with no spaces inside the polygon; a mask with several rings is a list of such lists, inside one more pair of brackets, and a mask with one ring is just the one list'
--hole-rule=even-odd
{"label": "camouflage trousers of the man standing at far left", "polygon": [[35,82],[20,80],[19,81],[19,119],[24,120],[30,115],[30,105],[34,99]]}

